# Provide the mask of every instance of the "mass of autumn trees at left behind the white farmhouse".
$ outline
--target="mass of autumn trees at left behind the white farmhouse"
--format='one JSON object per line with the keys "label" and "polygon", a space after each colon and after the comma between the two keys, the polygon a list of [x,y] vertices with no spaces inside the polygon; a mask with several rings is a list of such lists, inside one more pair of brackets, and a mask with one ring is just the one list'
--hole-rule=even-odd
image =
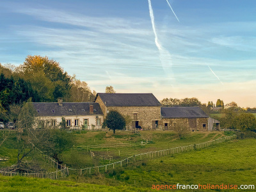
{"label": "mass of autumn trees at left behind the white farmhouse", "polygon": [[[56,102],[59,97],[66,102],[90,102],[95,95],[96,92],[92,92],[86,82],[69,76],[60,63],[47,56],[28,56],[19,67],[0,63],[2,112],[29,98],[32,102]],[[3,115],[0,116],[1,120],[4,120]]]}

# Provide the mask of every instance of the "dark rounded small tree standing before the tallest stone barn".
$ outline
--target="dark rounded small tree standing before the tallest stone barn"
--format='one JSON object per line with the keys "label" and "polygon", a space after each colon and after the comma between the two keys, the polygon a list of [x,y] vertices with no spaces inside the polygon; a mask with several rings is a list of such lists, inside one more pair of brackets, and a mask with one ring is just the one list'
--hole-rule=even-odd
{"label": "dark rounded small tree standing before the tallest stone barn", "polygon": [[105,121],[107,127],[112,129],[114,134],[116,129],[125,128],[125,118],[120,113],[118,113],[118,111],[109,111]]}

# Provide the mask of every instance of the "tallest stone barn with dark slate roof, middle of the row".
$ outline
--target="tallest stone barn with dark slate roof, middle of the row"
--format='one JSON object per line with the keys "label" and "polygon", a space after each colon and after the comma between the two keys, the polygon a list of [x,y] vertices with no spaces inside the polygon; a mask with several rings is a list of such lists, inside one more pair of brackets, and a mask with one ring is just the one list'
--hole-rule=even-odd
{"label": "tallest stone barn with dark slate roof, middle of the row", "polygon": [[104,118],[108,111],[118,111],[128,120],[128,128],[158,129],[161,104],[152,93],[97,93]]}

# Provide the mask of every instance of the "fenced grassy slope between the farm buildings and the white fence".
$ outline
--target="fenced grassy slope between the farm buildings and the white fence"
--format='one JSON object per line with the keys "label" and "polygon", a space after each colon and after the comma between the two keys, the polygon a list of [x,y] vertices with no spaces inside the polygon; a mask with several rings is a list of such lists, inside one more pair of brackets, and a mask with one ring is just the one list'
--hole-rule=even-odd
{"label": "fenced grassy slope between the farm buildings and the white fence", "polygon": [[[77,146],[65,152],[63,160],[72,168],[85,168],[113,163],[134,154],[192,145],[225,136],[223,132],[190,132],[186,137],[178,139],[177,134],[172,131],[141,131],[140,133],[141,135],[118,131],[115,135],[106,132],[76,134]],[[117,143],[124,143],[124,146],[121,147]]]}

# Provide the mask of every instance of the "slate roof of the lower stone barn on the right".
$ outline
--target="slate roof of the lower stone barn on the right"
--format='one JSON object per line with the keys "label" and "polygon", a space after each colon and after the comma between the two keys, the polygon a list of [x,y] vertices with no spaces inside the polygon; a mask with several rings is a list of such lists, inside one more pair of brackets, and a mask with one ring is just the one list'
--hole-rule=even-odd
{"label": "slate roof of the lower stone barn on the right", "polygon": [[161,108],[162,118],[208,118],[199,107]]}

